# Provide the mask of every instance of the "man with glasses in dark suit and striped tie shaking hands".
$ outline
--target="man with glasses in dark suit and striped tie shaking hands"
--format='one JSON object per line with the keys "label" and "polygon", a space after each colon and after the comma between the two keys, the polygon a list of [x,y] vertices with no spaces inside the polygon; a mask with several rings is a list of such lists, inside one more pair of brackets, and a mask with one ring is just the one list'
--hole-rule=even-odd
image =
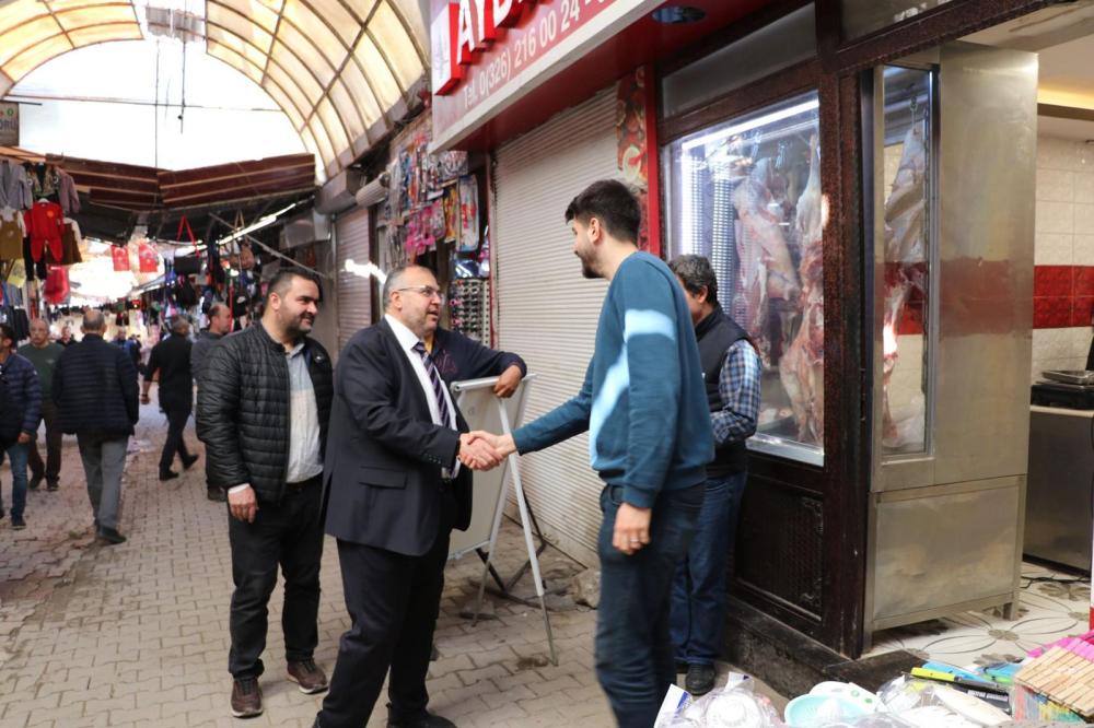
{"label": "man with glasses in dark suit and striped tie shaking hands", "polygon": [[424,340],[443,296],[426,268],[384,284],[386,314],[341,353],[324,465],[326,531],[338,539],[346,608],[323,728],[360,728],[391,668],[389,728],[445,728],[426,711],[426,671],[453,528],[472,515],[469,467],[497,465],[473,443]]}

